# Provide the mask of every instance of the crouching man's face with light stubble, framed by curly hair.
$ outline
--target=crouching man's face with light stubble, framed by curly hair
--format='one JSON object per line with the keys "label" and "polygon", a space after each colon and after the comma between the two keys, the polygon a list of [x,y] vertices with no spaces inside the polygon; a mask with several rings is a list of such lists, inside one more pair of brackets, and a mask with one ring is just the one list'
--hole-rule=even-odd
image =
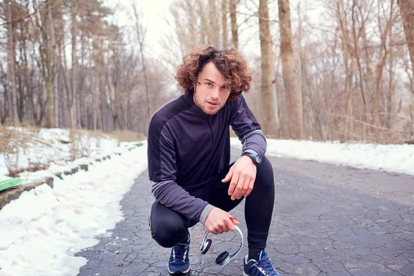
{"label": "crouching man's face with light stubble, framed by curly hair", "polygon": [[213,62],[206,63],[199,72],[199,85],[194,88],[194,102],[207,115],[215,115],[230,95],[227,79],[221,75]]}

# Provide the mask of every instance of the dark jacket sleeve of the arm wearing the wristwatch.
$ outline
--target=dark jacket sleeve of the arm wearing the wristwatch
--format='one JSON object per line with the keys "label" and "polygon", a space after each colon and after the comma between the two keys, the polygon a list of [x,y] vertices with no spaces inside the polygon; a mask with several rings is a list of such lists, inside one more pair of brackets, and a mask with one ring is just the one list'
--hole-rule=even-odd
{"label": "dark jacket sleeve of the arm wearing the wristwatch", "polygon": [[264,157],[267,146],[266,137],[242,95],[233,104],[230,126],[232,126],[239,140],[242,141],[242,152],[255,152],[259,157]]}

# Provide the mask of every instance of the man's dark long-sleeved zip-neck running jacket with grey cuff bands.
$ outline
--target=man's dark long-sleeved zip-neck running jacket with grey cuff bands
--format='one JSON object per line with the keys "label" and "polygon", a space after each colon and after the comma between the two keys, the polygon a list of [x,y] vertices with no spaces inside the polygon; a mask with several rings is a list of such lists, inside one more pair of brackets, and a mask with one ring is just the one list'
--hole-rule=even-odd
{"label": "man's dark long-sleeved zip-neck running jacket with grey cuff bands", "polygon": [[193,95],[165,103],[150,119],[148,174],[161,204],[204,224],[214,206],[193,197],[186,187],[201,184],[230,163],[230,128],[243,152],[264,157],[266,138],[244,97],[228,100],[216,115],[206,115]]}

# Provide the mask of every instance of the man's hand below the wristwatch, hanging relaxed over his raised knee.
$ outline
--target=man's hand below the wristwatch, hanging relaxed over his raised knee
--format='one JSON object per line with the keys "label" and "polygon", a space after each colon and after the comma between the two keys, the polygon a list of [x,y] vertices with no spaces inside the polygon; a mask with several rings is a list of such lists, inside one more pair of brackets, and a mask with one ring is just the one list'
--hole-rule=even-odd
{"label": "man's hand below the wristwatch, hanging relaxed over his raised knee", "polygon": [[253,160],[248,156],[240,157],[224,177],[221,182],[226,183],[230,181],[228,187],[228,195],[231,200],[241,199],[243,196],[247,197],[253,190],[255,184],[257,168]]}

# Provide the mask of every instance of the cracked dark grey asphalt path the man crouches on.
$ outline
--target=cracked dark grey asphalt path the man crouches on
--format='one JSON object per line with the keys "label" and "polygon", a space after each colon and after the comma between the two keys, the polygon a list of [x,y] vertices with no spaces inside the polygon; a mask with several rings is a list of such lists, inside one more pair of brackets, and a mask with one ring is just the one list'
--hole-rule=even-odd
{"label": "cracked dark grey asphalt path the man crouches on", "polygon": [[[239,150],[233,149],[233,161]],[[266,252],[282,275],[414,275],[414,176],[359,170],[315,161],[268,157],[275,173],[275,208]],[[131,168],[132,169],[132,168]],[[79,276],[168,275],[169,248],[150,237],[148,210],[154,201],[148,172],[121,201],[125,219],[99,244],[77,256],[88,263]],[[242,275],[247,254],[244,202],[230,212],[242,222],[245,246],[227,266],[213,257],[233,253],[240,237],[212,235],[211,255],[190,251],[188,275]],[[190,229],[202,237],[199,224]],[[197,254],[196,254],[197,253]]]}

